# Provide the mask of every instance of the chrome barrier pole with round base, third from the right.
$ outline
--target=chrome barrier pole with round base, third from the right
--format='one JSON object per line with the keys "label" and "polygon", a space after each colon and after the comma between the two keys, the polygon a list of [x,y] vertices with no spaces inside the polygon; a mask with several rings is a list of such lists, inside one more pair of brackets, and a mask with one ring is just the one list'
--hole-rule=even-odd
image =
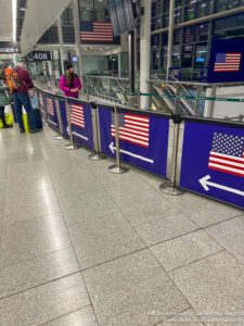
{"label": "chrome barrier pole with round base, third from the right", "polygon": [[92,130],[93,130],[93,140],[94,140],[94,153],[91,153],[88,158],[91,161],[102,161],[102,160],[106,159],[106,155],[101,154],[99,109],[95,103],[91,103],[91,110],[92,110]]}

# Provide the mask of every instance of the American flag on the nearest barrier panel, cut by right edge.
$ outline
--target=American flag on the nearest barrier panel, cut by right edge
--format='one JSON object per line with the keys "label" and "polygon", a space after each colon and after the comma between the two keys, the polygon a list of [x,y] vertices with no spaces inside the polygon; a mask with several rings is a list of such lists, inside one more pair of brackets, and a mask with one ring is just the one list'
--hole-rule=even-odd
{"label": "American flag on the nearest barrier panel, cut by right edge", "polygon": [[208,167],[244,177],[244,137],[215,133]]}

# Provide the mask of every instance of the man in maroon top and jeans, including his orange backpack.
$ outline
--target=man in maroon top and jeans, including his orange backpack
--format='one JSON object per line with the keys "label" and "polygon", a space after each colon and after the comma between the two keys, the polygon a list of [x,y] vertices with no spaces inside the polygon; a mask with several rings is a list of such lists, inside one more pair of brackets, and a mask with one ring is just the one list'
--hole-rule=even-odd
{"label": "man in maroon top and jeans, including his orange backpack", "polygon": [[34,88],[33,80],[29,73],[23,67],[21,63],[16,64],[15,68],[5,70],[8,86],[14,96],[14,106],[16,112],[16,117],[20,126],[20,131],[25,133],[23,117],[22,117],[22,105],[24,105],[25,111],[28,115],[28,122],[30,127],[30,133],[38,133],[36,118],[33,112],[30,98],[28,90]]}

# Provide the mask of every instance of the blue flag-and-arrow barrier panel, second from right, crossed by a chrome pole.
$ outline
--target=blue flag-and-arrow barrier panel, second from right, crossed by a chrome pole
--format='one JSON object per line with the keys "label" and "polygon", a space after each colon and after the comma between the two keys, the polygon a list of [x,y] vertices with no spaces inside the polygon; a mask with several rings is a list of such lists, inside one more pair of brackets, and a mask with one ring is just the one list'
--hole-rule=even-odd
{"label": "blue flag-and-arrow barrier panel, second from right, crossed by a chrome pole", "polygon": [[[115,118],[112,108],[99,106],[101,151],[115,156]],[[120,159],[166,177],[169,116],[119,109]]]}

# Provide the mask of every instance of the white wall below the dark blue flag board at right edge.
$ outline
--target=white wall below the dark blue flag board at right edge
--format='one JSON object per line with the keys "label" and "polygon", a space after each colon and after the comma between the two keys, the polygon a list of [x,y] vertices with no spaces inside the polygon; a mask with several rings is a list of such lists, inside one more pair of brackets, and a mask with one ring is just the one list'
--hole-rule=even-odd
{"label": "white wall below the dark blue flag board at right edge", "polygon": [[[207,97],[211,97],[211,89],[208,88],[206,91]],[[216,97],[220,98],[234,98],[234,99],[244,99],[244,86],[235,87],[220,87],[217,89]],[[204,116],[209,116],[210,101],[205,101]],[[226,116],[237,116],[244,114],[244,102],[215,102],[214,117],[223,118]]]}

